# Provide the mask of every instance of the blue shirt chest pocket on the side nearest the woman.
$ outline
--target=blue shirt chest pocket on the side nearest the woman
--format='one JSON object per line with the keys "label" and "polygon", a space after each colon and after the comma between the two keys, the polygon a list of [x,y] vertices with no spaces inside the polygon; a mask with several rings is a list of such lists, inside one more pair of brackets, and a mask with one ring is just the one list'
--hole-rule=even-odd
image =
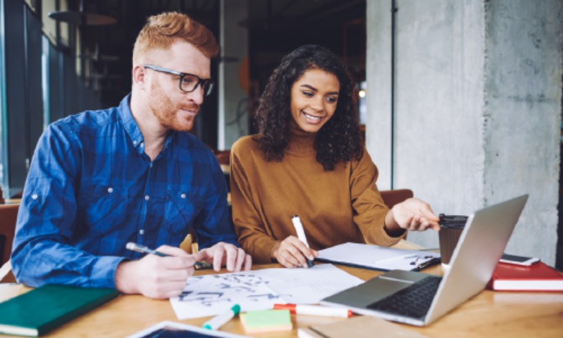
{"label": "blue shirt chest pocket on the side nearest the woman", "polygon": [[164,205],[163,225],[170,234],[187,233],[198,216],[203,199],[189,192],[168,190]]}

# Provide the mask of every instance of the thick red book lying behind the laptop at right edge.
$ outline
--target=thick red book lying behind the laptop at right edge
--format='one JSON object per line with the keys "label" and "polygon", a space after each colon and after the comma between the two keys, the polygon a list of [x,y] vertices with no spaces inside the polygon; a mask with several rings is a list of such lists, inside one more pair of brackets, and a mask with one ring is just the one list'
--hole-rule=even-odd
{"label": "thick red book lying behind the laptop at right edge", "polygon": [[544,262],[529,267],[498,263],[489,287],[496,291],[563,291],[563,275]]}

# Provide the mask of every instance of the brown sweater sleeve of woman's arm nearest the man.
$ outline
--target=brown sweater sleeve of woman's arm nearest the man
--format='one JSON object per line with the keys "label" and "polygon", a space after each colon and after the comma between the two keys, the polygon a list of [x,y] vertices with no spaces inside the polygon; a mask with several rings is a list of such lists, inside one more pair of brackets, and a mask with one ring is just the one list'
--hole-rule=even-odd
{"label": "brown sweater sleeve of woman's arm nearest the man", "polygon": [[[231,148],[231,204],[233,206],[233,223],[240,246],[252,256],[256,264],[271,263],[271,251],[277,240],[266,234],[260,218],[261,205],[253,203],[251,181],[242,164],[241,154],[250,157],[251,151],[244,144],[244,139],[235,142]],[[253,142],[246,139],[246,142]]]}

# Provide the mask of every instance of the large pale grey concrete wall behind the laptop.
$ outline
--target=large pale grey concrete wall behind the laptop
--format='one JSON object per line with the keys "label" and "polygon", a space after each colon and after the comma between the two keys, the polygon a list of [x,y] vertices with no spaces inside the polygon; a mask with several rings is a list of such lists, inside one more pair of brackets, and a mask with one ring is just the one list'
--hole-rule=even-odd
{"label": "large pale grey concrete wall behind the laptop", "polygon": [[[529,193],[507,251],[555,263],[562,3],[398,0],[391,142],[391,1],[367,1],[367,148],[380,188],[436,213]],[[434,232],[409,240],[437,247]]]}

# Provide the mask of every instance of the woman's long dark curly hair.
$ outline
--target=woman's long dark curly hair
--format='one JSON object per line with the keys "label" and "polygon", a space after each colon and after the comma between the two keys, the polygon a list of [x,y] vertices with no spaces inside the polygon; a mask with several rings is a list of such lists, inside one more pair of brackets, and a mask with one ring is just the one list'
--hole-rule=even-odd
{"label": "woman's long dark curly hair", "polygon": [[340,58],[325,47],[303,45],[281,60],[260,98],[257,126],[261,135],[257,142],[268,161],[281,161],[284,158],[292,120],[291,87],[309,69],[327,71],[340,82],[336,111],[314,141],[317,161],[324,170],[334,170],[338,162],[359,159],[363,144],[360,141],[354,82]]}

